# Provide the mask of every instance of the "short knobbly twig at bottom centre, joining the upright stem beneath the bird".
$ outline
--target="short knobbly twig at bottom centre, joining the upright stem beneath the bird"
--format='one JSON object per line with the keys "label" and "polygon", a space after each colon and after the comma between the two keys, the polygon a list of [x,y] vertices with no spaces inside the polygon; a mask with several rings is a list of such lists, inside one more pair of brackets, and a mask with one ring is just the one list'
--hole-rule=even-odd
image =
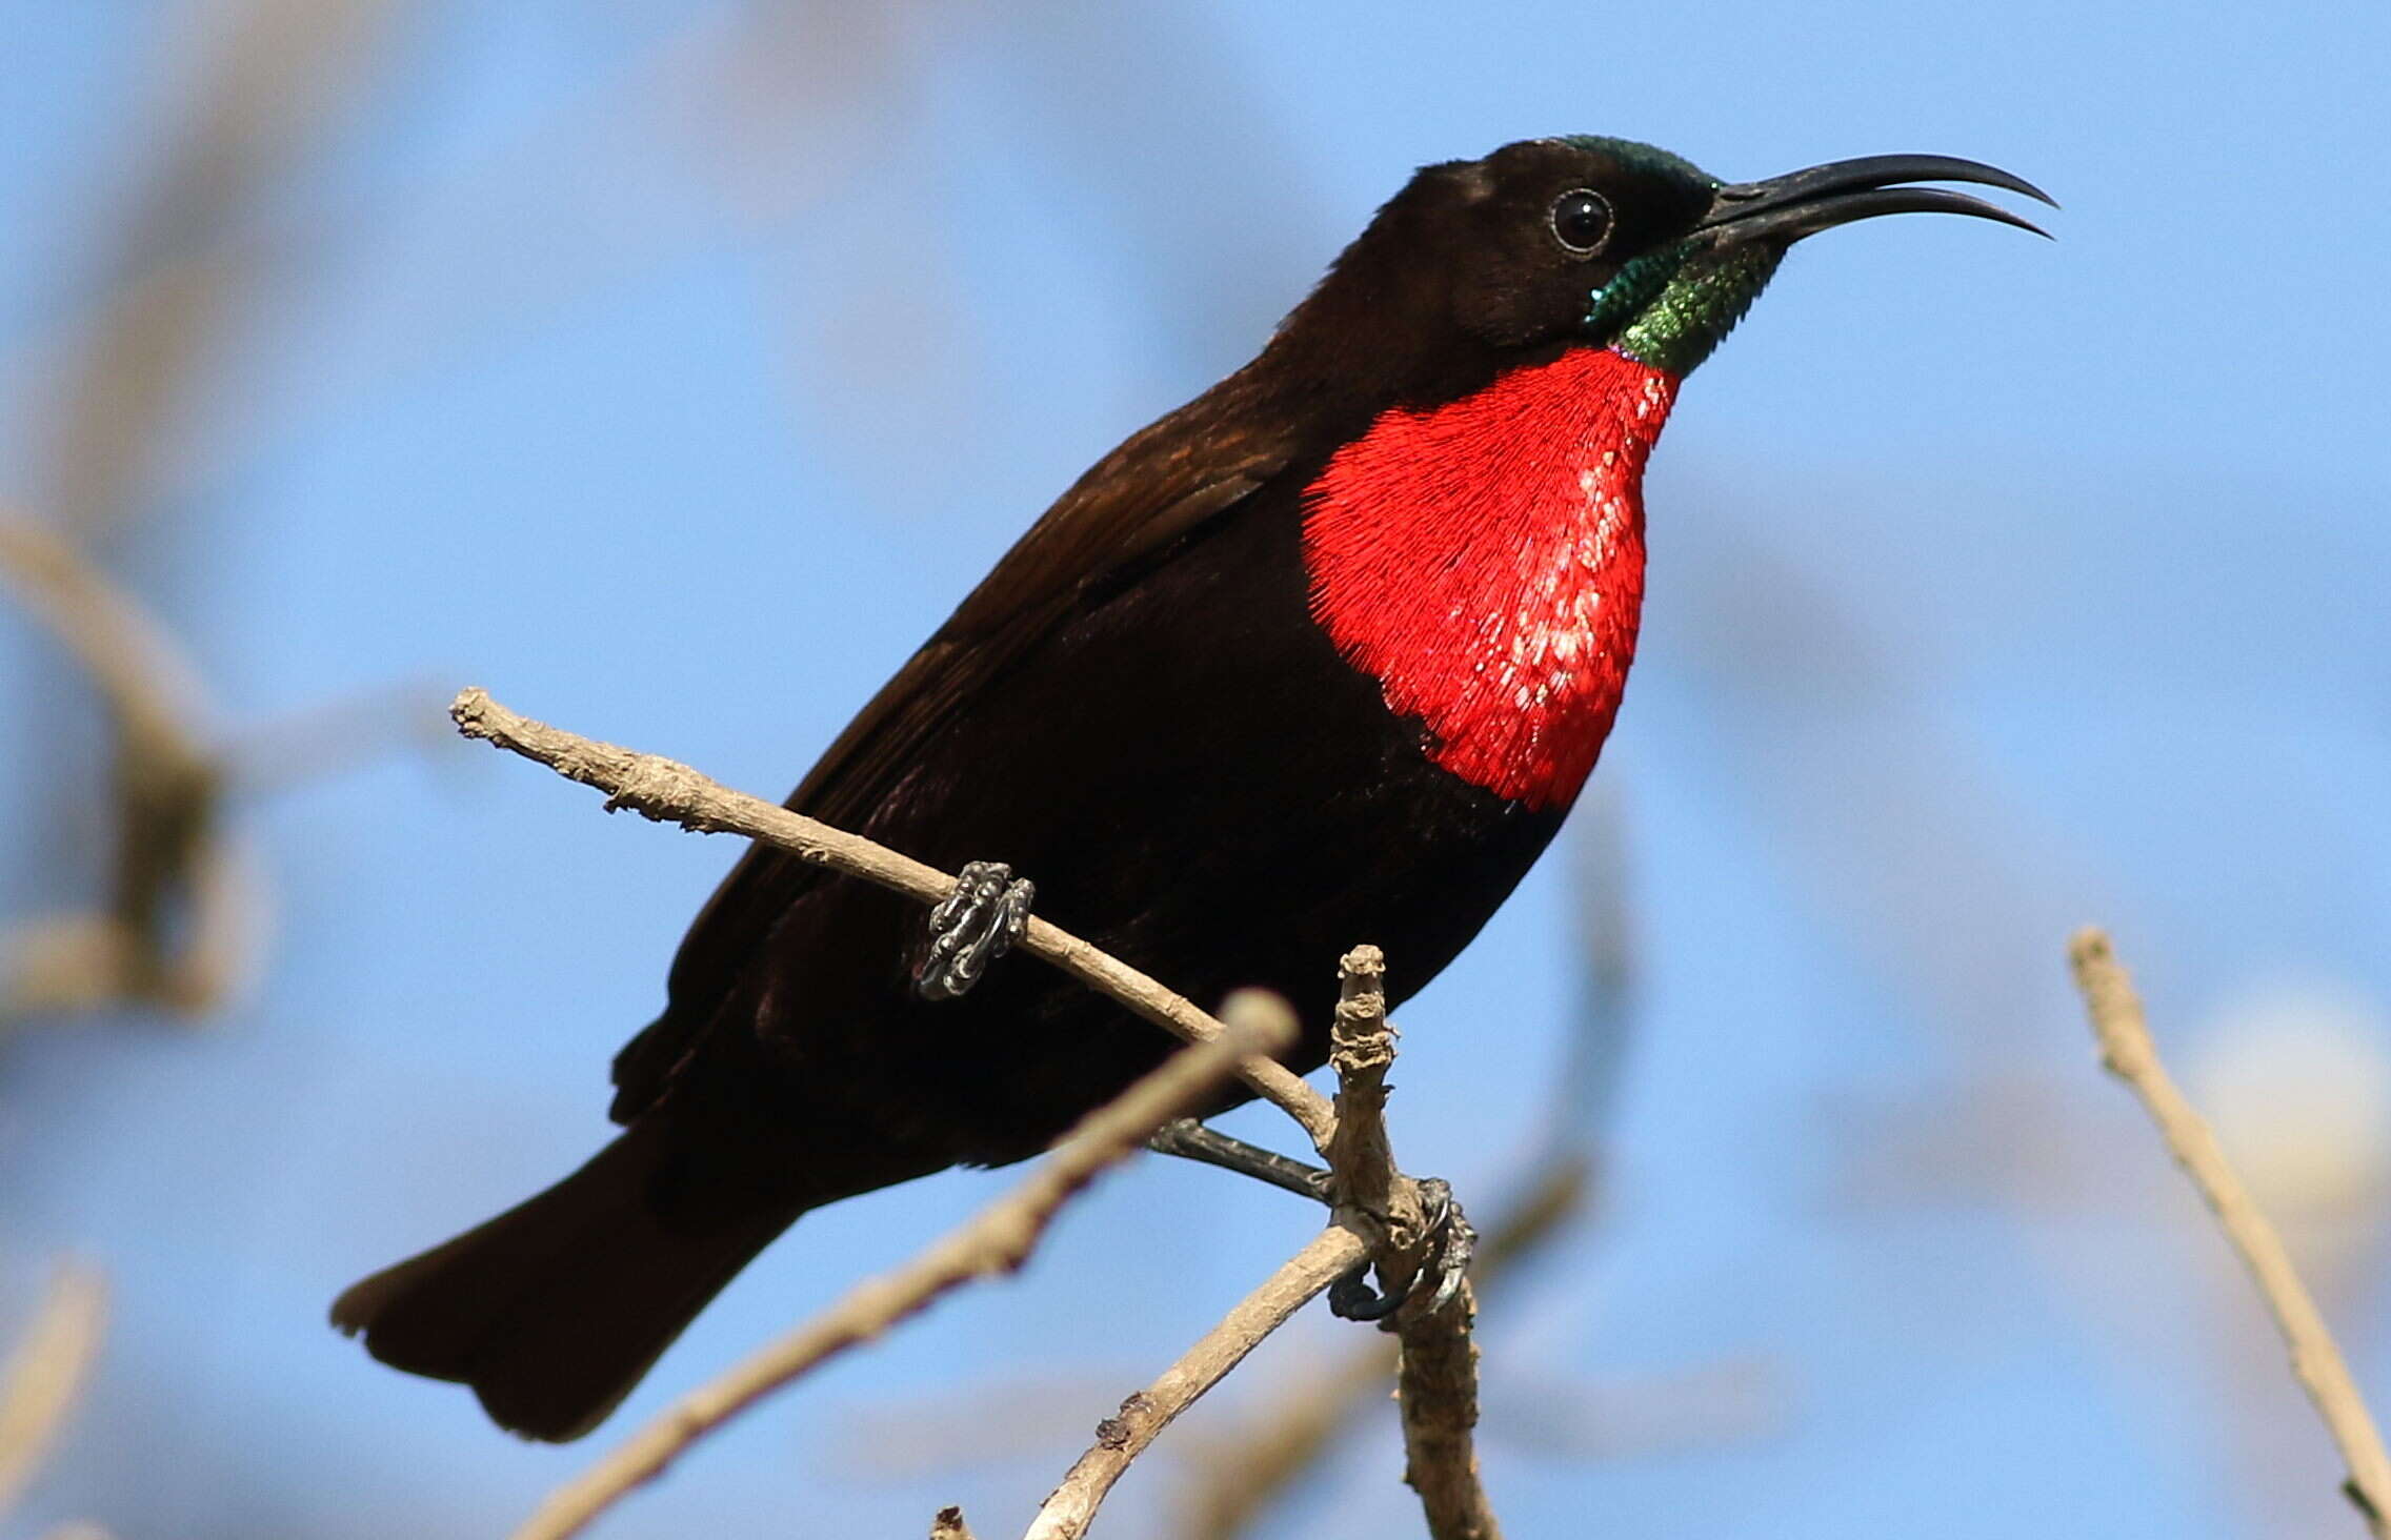
{"label": "short knobbly twig at bottom centre, joining the upright stem beneath the bird", "polygon": [[1097,1504],[1129,1463],[1155,1442],[1172,1418],[1196,1404],[1222,1375],[1243,1363],[1262,1337],[1277,1332],[1315,1294],[1368,1260],[1370,1236],[1332,1224],[1291,1255],[1260,1289],[1248,1294],[1176,1363],[1145,1389],[1121,1401],[1117,1416],[1095,1430],[1095,1444],[1078,1456],[1062,1485],[1038,1507],[1023,1540],[1078,1540]]}

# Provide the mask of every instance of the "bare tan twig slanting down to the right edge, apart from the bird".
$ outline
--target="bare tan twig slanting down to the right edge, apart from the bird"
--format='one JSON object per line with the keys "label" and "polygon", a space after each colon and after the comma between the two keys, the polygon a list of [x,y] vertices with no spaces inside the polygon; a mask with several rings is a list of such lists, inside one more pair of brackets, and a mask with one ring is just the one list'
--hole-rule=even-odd
{"label": "bare tan twig slanting down to the right edge, apart from the bird", "polygon": [[2075,988],[2083,990],[2092,1031],[2099,1035],[2102,1064],[2142,1098],[2142,1107],[2166,1138],[2166,1150],[2200,1188],[2233,1251],[2257,1279],[2257,1289],[2274,1313],[2274,1325],[2291,1349],[2291,1370],[2341,1447],[2341,1459],[2350,1471],[2343,1490],[2377,1540],[2391,1535],[2391,1459],[2384,1456],[2374,1416],[2358,1394],[2350,1368],[2341,1361],[2341,1349],[2334,1346],[2324,1315],[2317,1313],[2317,1301],[2310,1298],[2291,1265],[2291,1253],[2283,1251],[2274,1224],[2243,1188],[2207,1122],[2193,1112],[2193,1105],[2176,1090],[2173,1076],[2166,1074],[2166,1064],[2159,1062],[2159,1050],[2142,1019],[2142,1000],[2109,947],[2109,935],[2092,928],[2078,930],[2068,945],[2068,961],[2075,966]]}

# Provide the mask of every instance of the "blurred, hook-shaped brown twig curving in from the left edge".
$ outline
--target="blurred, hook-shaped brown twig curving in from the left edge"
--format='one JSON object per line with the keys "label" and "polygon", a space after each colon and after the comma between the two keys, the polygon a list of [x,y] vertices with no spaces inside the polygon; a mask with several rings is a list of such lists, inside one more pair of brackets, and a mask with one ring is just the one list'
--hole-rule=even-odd
{"label": "blurred, hook-shaped brown twig curving in from the left edge", "polygon": [[218,827],[222,775],[198,727],[196,672],[127,593],[33,519],[0,514],[0,579],[81,662],[117,734],[108,909],[14,937],[0,1019],[112,1002],[203,1012],[253,952],[253,897]]}

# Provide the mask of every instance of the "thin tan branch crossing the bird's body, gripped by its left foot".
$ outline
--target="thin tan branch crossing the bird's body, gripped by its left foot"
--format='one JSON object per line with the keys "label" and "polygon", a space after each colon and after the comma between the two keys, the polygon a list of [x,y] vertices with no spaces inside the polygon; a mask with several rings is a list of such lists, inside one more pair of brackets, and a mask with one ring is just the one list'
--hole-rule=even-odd
{"label": "thin tan branch crossing the bird's body, gripped by its left foot", "polygon": [[[545,722],[533,722],[493,701],[488,691],[469,689],[459,693],[450,705],[450,715],[469,739],[488,739],[509,753],[548,765],[567,780],[605,792],[610,813],[631,808],[643,818],[677,823],[701,835],[763,839],[799,861],[877,882],[918,904],[937,904],[954,892],[952,873],[923,866],[885,844],[834,830],[827,823],[791,813],[760,796],[732,792],[677,760],[655,753],[634,753],[614,744],[548,727]],[[1038,916],[1031,916],[1028,930],[1021,937],[1021,952],[1054,964],[1071,978],[1126,1004],[1188,1043],[1207,1043],[1219,1035],[1219,1021],[1196,1009],[1186,997],[1174,995],[1145,973]],[[1239,1067],[1236,1078],[1246,1081],[1255,1095],[1277,1102],[1310,1133],[1317,1148],[1327,1150],[1337,1114],[1329,1110],[1327,1098],[1305,1086],[1298,1074],[1274,1059],[1255,1057]]]}

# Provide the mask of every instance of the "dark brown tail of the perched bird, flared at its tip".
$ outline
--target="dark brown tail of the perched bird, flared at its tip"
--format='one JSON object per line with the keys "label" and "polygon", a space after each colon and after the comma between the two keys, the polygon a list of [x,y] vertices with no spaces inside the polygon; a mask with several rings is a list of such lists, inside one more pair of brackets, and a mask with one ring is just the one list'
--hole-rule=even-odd
{"label": "dark brown tail of the perched bird, flared at its tip", "polygon": [[351,1287],[332,1325],[383,1363],[471,1385],[500,1428],[581,1437],[772,1236],[844,1196],[672,1222],[669,1157],[662,1124],[634,1124],[545,1193]]}

